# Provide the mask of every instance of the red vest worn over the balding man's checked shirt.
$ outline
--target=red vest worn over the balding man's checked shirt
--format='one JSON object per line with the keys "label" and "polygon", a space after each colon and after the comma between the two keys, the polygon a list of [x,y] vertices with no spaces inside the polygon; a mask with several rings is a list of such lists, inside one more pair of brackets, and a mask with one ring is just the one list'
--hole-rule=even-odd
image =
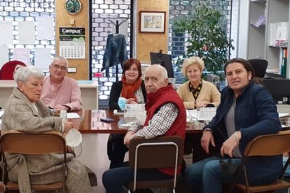
{"label": "red vest worn over the balding man's checked shirt", "polygon": [[[186,130],[186,109],[184,108],[184,102],[181,101],[177,92],[173,89],[172,85],[168,85],[167,87],[160,88],[155,93],[150,93],[147,95],[146,101],[146,112],[147,117],[144,123],[144,126],[148,125],[149,120],[152,119],[153,115],[155,115],[159,108],[163,106],[165,103],[174,103],[179,108],[179,114],[177,118],[174,120],[172,126],[168,131],[164,134],[165,136],[181,136],[181,138],[185,138],[185,130]],[[184,150],[179,150],[184,151]],[[181,166],[178,167],[177,173],[180,172]],[[168,175],[174,176],[174,169],[159,169],[161,172],[166,173]]]}

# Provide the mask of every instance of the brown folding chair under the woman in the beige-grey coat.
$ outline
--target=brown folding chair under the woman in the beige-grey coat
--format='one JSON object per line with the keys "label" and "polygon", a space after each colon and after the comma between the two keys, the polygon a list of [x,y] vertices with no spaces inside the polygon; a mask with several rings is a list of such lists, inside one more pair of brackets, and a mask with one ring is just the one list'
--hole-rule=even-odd
{"label": "brown folding chair under the woman in the beige-grey coat", "polygon": [[[20,153],[25,155],[41,155],[48,153],[62,153],[64,162],[62,164],[62,181],[46,185],[31,185],[32,190],[62,190],[65,192],[65,180],[67,174],[67,145],[65,138],[58,131],[48,131],[42,134],[28,134],[20,131],[7,131],[0,137],[1,155],[3,159],[2,180],[6,185],[6,190],[19,190],[18,183],[8,180],[6,165],[7,153]],[[49,160],[48,160],[49,162]]]}

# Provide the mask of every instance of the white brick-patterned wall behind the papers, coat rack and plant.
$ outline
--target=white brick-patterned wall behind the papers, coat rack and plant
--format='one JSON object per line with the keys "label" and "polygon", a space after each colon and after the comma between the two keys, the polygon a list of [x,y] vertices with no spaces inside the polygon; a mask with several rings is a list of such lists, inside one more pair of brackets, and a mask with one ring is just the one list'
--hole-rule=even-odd
{"label": "white brick-patterned wall behind the papers, coat rack and plant", "polygon": [[[235,10],[237,10],[238,0],[233,0]],[[199,6],[201,3],[206,3],[212,8],[218,9],[223,13],[224,20],[223,28],[229,35],[229,15],[230,1],[215,0],[215,1],[198,1],[198,0],[170,0],[170,27],[172,19],[178,15],[190,15],[192,8]],[[34,64],[34,48],[51,48],[51,54],[55,56],[55,41],[37,41],[34,45],[19,45],[18,44],[18,21],[35,21],[36,17],[50,15],[55,17],[55,1],[25,1],[25,0],[0,0],[0,20],[8,20],[13,22],[13,45],[9,45],[9,57],[13,59],[13,48],[30,48],[31,63]],[[237,11],[235,12],[237,15]],[[116,20],[127,20],[129,23],[127,36],[127,50],[130,51],[130,1],[124,0],[92,0],[92,80],[99,82],[99,101],[107,101],[112,83],[116,80],[116,69],[111,68],[109,78],[104,76],[102,69],[102,59],[106,48],[107,36],[114,32],[113,24]],[[236,23],[234,23],[236,24]],[[235,27],[235,26],[234,26]],[[237,27],[232,28],[232,34],[235,35]],[[37,34],[36,34],[37,36]],[[169,34],[169,50],[173,57],[177,57],[184,53],[186,47],[186,34],[174,34],[170,29]],[[232,38],[235,36],[232,35]],[[122,73],[120,65],[118,66],[118,77]]]}

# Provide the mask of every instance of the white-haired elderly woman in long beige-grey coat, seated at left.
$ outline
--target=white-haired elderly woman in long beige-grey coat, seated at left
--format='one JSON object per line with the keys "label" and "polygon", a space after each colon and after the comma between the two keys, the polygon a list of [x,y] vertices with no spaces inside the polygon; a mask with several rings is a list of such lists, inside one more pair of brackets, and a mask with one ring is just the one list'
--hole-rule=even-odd
{"label": "white-haired elderly woman in long beige-grey coat, seated at left", "polygon": [[[15,71],[17,87],[6,103],[2,118],[3,132],[14,129],[29,133],[50,130],[67,133],[72,128],[71,122],[50,117],[50,110],[39,101],[43,78],[43,73],[32,66],[20,67]],[[32,192],[30,183],[48,184],[62,179],[62,160],[60,154],[7,155],[9,179],[19,183],[20,192]],[[67,160],[67,192],[90,192],[85,166],[70,153],[67,154]]]}

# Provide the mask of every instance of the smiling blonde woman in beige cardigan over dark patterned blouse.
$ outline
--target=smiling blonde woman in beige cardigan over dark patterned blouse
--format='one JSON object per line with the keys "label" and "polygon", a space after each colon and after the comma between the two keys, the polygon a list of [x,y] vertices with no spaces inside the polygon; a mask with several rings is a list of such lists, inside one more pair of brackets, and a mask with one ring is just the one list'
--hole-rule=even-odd
{"label": "smiling blonde woman in beige cardigan over dark patterned blouse", "polygon": [[177,93],[187,109],[205,107],[209,103],[219,106],[221,102],[221,94],[216,86],[202,80],[203,69],[205,69],[205,62],[200,57],[184,59],[181,72],[188,81],[179,86]]}

